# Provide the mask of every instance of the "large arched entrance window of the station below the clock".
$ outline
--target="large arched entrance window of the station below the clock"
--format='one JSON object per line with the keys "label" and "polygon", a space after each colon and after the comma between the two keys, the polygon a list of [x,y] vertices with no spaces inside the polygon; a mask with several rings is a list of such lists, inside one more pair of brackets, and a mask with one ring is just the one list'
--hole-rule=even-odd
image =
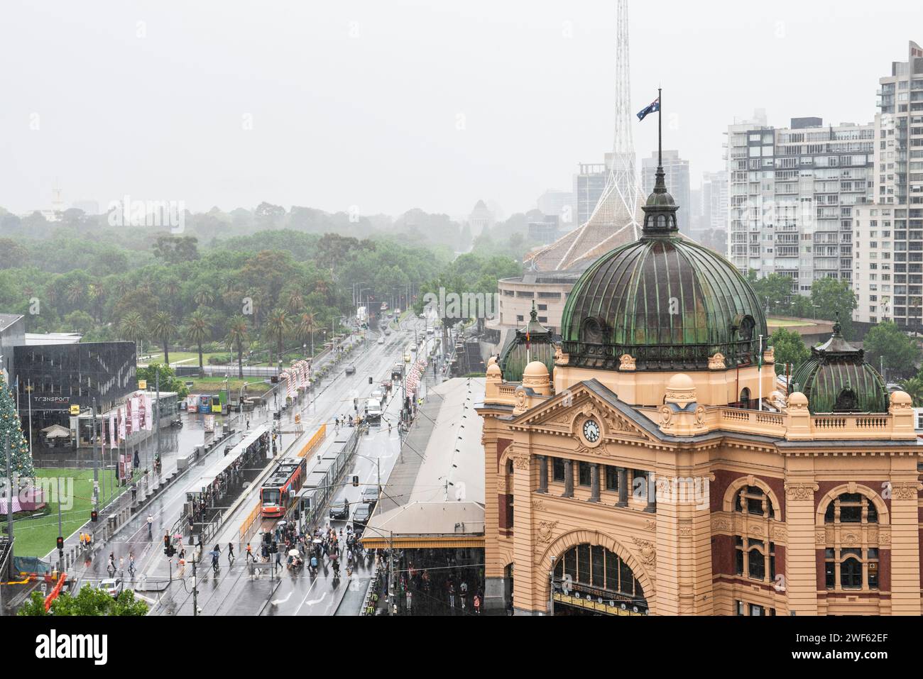
{"label": "large arched entrance window of the station below the clock", "polygon": [[607,547],[574,544],[557,554],[553,571],[555,615],[646,615],[647,597],[629,563]]}

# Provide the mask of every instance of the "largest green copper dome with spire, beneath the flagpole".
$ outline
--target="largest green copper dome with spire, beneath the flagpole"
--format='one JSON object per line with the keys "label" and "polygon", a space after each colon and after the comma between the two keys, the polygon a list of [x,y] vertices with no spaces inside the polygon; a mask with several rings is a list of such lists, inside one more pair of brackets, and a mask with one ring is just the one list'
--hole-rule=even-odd
{"label": "largest green copper dome with spire, beneath the flagpole", "polygon": [[598,259],[570,292],[561,321],[569,365],[617,370],[707,370],[756,363],[768,335],[760,301],[724,257],[681,238],[663,169],[644,210],[641,240]]}

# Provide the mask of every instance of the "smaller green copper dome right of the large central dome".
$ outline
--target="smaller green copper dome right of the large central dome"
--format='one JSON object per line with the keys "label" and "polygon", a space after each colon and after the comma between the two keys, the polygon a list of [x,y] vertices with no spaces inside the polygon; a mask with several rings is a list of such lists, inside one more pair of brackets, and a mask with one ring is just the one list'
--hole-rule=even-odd
{"label": "smaller green copper dome right of the large central dome", "polygon": [[840,324],[811,357],[792,375],[793,387],[808,397],[808,410],[816,412],[887,412],[888,389],[884,380],[863,359],[864,351],[843,339]]}

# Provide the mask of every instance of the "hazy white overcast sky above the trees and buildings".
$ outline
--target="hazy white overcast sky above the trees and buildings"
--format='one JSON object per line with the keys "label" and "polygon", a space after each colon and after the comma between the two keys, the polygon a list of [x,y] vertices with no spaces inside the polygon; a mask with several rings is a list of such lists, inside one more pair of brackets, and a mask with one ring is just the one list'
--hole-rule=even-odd
{"label": "hazy white overcast sky above the trees and buildings", "polygon": [[[629,13],[631,109],[662,83],[665,147],[694,185],[754,108],[870,122],[878,78],[923,42],[917,0]],[[615,23],[614,2],[589,0],[4,0],[0,206],[48,208],[56,182],[101,208],[533,208],[612,146]],[[633,129],[648,155],[655,119]]]}

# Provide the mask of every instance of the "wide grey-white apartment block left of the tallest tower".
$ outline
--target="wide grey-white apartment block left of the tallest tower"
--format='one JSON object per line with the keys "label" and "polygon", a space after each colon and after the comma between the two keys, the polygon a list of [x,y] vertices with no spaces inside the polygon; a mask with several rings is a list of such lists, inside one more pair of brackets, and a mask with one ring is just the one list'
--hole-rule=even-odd
{"label": "wide grey-white apartment block left of the tallest tower", "polygon": [[854,206],[871,201],[874,125],[793,118],[727,131],[727,255],[741,271],[792,279],[808,294],[823,278],[851,280]]}

